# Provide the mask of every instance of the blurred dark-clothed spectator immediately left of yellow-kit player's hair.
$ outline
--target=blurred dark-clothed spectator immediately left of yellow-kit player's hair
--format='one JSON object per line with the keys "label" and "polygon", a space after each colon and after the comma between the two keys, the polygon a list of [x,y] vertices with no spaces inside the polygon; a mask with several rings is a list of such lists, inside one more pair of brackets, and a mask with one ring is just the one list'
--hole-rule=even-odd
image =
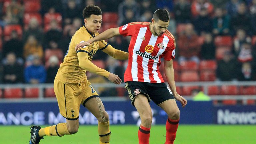
{"label": "blurred dark-clothed spectator immediately left of yellow-kit player's hair", "polygon": [[67,7],[62,11],[64,25],[71,24],[75,17],[82,17],[79,6],[76,4],[76,0],[68,0]]}

